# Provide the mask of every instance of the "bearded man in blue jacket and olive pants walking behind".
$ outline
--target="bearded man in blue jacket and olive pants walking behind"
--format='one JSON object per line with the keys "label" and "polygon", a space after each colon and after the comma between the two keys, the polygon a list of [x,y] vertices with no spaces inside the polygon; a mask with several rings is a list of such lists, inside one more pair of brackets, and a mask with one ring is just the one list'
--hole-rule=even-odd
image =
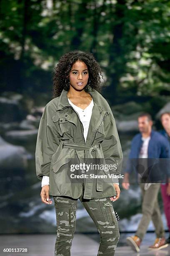
{"label": "bearded man in blue jacket and olive pants walking behind", "polygon": [[[153,121],[148,113],[143,113],[138,117],[138,133],[132,140],[131,151],[129,159],[136,159],[137,162],[147,163],[148,158],[168,158],[170,150],[168,141],[160,133],[152,130]],[[147,159],[147,161],[145,161]],[[122,187],[128,189],[129,175],[133,171],[132,162],[129,161],[124,175]],[[145,165],[144,165],[145,167]],[[145,168],[147,169],[147,168]],[[140,251],[140,243],[145,236],[148,229],[150,220],[153,220],[155,226],[156,239],[150,250],[156,251],[168,246],[165,239],[165,232],[163,222],[161,219],[160,207],[158,204],[158,192],[160,183],[145,183],[143,177],[138,173],[138,182],[142,192],[142,218],[138,225],[135,236],[127,237],[127,243],[133,248],[134,251]]]}

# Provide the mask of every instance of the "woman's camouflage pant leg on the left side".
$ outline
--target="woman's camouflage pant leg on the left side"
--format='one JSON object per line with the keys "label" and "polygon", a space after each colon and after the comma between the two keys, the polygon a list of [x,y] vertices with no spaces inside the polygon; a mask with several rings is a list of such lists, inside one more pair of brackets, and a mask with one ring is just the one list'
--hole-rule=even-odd
{"label": "woman's camouflage pant leg on the left side", "polygon": [[55,256],[70,256],[75,233],[77,199],[67,196],[53,196],[57,220]]}

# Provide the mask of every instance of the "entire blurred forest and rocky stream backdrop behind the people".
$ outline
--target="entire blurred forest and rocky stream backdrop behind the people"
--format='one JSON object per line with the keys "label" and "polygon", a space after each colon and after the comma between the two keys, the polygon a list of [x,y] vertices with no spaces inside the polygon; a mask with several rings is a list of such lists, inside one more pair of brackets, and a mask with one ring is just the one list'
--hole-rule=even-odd
{"label": "entire blurred forest and rocky stream backdrop behind the people", "polygon": [[[52,99],[54,67],[71,50],[94,54],[127,159],[138,114],[149,112],[159,130],[159,111],[170,102],[170,1],[1,0],[0,17],[0,182],[7,198],[0,233],[52,232],[55,209],[40,201],[34,154],[43,107]],[[134,230],[140,218],[140,190],[132,188],[135,196],[122,189],[115,202],[120,231]],[[94,231],[78,207],[77,230],[85,231],[84,219]]]}

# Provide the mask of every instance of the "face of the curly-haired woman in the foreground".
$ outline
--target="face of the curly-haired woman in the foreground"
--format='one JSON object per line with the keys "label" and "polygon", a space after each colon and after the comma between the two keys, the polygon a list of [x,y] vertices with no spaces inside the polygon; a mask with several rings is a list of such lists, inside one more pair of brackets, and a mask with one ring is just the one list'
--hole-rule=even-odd
{"label": "face of the curly-haired woman in the foreground", "polygon": [[69,74],[70,86],[72,86],[75,90],[82,90],[89,78],[89,73],[87,69],[87,65],[83,61],[76,61],[72,65],[72,69]]}

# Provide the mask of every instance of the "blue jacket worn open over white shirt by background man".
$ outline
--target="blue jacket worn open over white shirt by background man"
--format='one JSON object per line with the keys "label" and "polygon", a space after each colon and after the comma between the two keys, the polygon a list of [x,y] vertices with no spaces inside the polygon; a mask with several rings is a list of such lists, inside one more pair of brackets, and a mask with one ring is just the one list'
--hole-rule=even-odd
{"label": "blue jacket worn open over white shirt by background man", "polygon": [[[142,135],[141,133],[138,133],[133,137],[132,143],[131,143],[131,150],[129,154],[129,161],[127,163],[127,166],[125,168],[125,172],[131,173],[134,169],[133,166],[133,160],[130,161],[130,159],[138,159],[140,154],[140,148],[142,146]],[[150,141],[148,144],[148,159],[162,159],[166,158],[166,163],[170,163],[170,143],[168,142],[167,138],[165,136],[161,135],[157,131],[151,131],[150,134]],[[164,162],[164,166],[165,166]],[[166,166],[166,172],[168,172],[168,177],[170,177],[170,166]],[[137,173],[138,174],[138,173]]]}

